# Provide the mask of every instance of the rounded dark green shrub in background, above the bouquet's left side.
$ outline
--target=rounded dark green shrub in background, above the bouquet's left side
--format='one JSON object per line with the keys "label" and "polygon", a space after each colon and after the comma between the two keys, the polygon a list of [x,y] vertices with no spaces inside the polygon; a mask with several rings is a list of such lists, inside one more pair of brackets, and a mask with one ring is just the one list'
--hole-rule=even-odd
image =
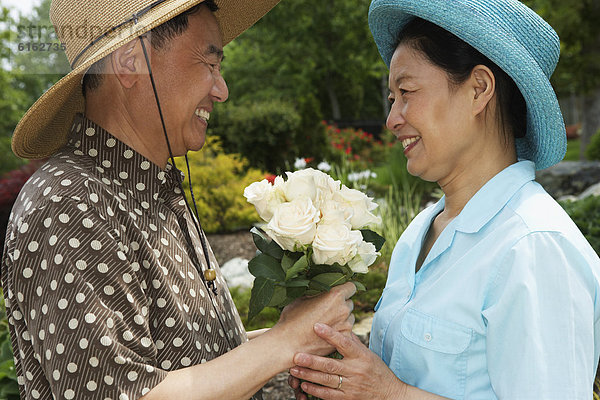
{"label": "rounded dark green shrub in background, above the bouquet's left side", "polygon": [[225,152],[241,154],[252,167],[279,173],[298,155],[317,156],[301,153],[315,152],[325,143],[323,129],[315,123],[314,130],[307,130],[289,103],[272,100],[220,107],[211,120],[211,134],[221,138]]}

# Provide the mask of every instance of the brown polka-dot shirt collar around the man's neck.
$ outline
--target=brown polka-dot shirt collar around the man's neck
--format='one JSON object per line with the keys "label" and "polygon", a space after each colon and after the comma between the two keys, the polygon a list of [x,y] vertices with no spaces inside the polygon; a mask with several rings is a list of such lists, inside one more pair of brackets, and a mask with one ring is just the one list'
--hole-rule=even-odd
{"label": "brown polka-dot shirt collar around the man's neck", "polygon": [[165,192],[181,193],[181,171],[171,164],[164,170],[159,168],[82,114],[75,116],[67,146],[75,155],[91,157],[96,170],[105,175],[103,182],[122,186],[141,198],[142,205],[159,201]]}

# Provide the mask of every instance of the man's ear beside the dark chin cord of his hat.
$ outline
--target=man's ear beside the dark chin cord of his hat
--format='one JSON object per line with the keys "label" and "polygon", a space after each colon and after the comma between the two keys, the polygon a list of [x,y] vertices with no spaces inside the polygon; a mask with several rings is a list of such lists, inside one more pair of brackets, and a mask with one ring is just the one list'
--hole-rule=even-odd
{"label": "man's ear beside the dark chin cord of his hat", "polygon": [[111,63],[115,77],[126,89],[131,89],[140,77],[148,74],[139,39],[134,39],[115,50],[111,54]]}

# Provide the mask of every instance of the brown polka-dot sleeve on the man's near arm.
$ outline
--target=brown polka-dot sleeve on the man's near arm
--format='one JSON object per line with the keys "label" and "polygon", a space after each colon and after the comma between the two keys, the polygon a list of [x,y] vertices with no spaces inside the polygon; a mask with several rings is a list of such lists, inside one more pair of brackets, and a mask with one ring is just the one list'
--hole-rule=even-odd
{"label": "brown polka-dot sleeve on the man's near arm", "polygon": [[140,266],[127,259],[124,227],[112,224],[66,198],[20,222],[15,336],[33,349],[55,398],[137,399],[167,374],[157,368]]}

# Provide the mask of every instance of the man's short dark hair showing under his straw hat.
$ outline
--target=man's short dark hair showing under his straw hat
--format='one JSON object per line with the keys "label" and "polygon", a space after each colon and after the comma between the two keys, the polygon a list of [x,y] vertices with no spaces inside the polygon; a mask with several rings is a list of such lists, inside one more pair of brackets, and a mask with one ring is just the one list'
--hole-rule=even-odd
{"label": "man's short dark hair showing under his straw hat", "polygon": [[[165,48],[172,39],[176,38],[177,36],[181,36],[188,28],[188,17],[200,11],[200,7],[202,6],[208,7],[211,12],[215,12],[219,9],[219,6],[217,6],[214,0],[204,0],[202,3],[196,4],[194,7],[185,10],[170,20],[152,28],[150,30],[152,48],[155,50],[161,50]],[[100,87],[100,84],[102,83],[104,66],[109,56],[110,55],[101,58],[92,64],[92,66],[83,76],[82,91],[84,97],[86,92],[93,91]]]}

